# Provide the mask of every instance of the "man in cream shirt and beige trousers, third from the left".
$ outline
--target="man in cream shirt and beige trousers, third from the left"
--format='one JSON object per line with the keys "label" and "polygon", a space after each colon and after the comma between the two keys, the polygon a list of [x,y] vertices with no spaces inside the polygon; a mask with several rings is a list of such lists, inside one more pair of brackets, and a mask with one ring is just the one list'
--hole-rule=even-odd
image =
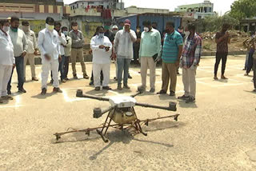
{"label": "man in cream shirt and beige trousers, third from the left", "polygon": [[34,55],[38,54],[38,43],[37,38],[35,38],[34,31],[30,30],[30,23],[27,21],[22,22],[22,30],[26,35],[26,41],[28,43],[27,54],[24,57],[24,82],[26,82],[26,62],[30,62],[30,69],[32,75],[32,81],[38,81],[35,76],[35,66],[34,66]]}

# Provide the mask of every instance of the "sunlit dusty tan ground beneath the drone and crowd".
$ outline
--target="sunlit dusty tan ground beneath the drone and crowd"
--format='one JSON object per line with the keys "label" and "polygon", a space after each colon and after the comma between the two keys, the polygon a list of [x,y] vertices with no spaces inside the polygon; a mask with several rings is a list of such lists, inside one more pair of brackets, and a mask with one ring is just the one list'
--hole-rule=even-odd
{"label": "sunlit dusty tan ground beneath the drone and crowd", "polygon": [[[63,93],[48,93],[46,97],[39,95],[40,82],[26,82],[28,93],[14,93],[14,101],[0,105],[0,170],[255,170],[256,94],[251,92],[251,77],[243,76],[243,65],[244,58],[229,57],[226,77],[230,79],[216,82],[214,58],[202,59],[194,104],[153,93],[136,97],[138,101],[158,105],[176,101],[177,113],[181,114],[178,122],[166,119],[143,126],[147,137],[132,137],[110,129],[108,144],[97,133],[90,137],[69,134],[62,137],[62,143],[55,143],[53,133],[70,127],[94,127],[104,121],[105,117],[94,119],[92,111],[94,107],[108,107],[108,102],[75,97],[76,89],[96,94],[88,80],[70,80],[61,85]],[[90,73],[91,64],[86,67]],[[38,77],[40,70],[38,66]],[[97,95],[134,93],[141,82],[138,70],[130,70],[131,91],[120,92],[116,82],[111,82],[113,91]],[[160,90],[161,69],[157,74]],[[13,80],[17,80],[16,74]],[[177,95],[182,95],[182,87],[182,76],[178,76]],[[136,107],[136,111],[140,119],[173,114],[141,107]]]}

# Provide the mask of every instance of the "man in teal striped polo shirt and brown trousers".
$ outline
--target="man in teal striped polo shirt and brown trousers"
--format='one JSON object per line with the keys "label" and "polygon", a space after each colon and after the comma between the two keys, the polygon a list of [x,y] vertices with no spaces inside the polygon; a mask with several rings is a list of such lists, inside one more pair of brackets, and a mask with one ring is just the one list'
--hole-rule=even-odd
{"label": "man in teal striped polo shirt and brown trousers", "polygon": [[158,92],[166,93],[170,81],[170,96],[175,96],[177,68],[182,55],[182,35],[174,28],[173,22],[166,23],[166,37],[162,46],[162,89]]}

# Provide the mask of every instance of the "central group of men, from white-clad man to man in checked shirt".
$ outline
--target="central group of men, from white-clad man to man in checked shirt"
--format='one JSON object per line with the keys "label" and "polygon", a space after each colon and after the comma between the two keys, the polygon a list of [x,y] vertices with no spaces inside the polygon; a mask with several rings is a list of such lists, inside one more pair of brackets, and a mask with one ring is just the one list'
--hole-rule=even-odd
{"label": "central group of men, from white-clad man to man in checked shirt", "polygon": [[118,31],[118,27],[113,26],[114,41],[110,41],[110,37],[105,34],[108,28],[102,26],[97,28],[95,36],[91,39],[95,90],[101,89],[102,78],[102,89],[111,89],[109,86],[111,58],[117,62],[117,89],[130,89],[128,85],[130,62],[138,50],[142,78],[142,85],[138,89],[146,90],[147,70],[150,69],[150,93],[155,92],[156,63],[162,59],[162,89],[158,94],[167,93],[170,82],[170,96],[175,96],[177,69],[181,66],[185,94],[178,98],[186,100],[186,103],[195,101],[195,74],[202,50],[202,39],[196,34],[195,26],[193,24],[186,26],[188,37],[183,42],[182,35],[175,30],[174,23],[167,22],[162,46],[161,34],[154,29],[150,21],[143,22],[144,31],[141,34],[139,34],[140,27],[137,27],[136,33],[130,29],[130,20],[126,19],[123,24],[123,29]]}

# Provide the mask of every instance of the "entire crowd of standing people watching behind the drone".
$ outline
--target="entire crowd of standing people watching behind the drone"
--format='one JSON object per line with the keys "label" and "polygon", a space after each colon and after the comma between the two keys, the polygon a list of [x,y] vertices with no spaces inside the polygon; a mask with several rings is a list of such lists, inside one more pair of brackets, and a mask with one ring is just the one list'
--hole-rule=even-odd
{"label": "entire crowd of standing people watching behind the drone", "polygon": [[[156,64],[162,60],[162,89],[158,94],[166,94],[168,89],[170,96],[175,96],[178,68],[182,68],[182,82],[184,94],[178,99],[186,103],[194,102],[196,96],[195,75],[199,66],[202,53],[202,38],[196,32],[196,26],[189,23],[185,29],[179,27],[175,30],[173,22],[166,23],[166,30],[161,34],[157,30],[157,23],[143,22],[144,30],[137,26],[131,30],[131,22],[126,19],[122,28],[112,26],[106,22],[105,26],[98,26],[94,37],[90,40],[90,53],[93,54],[93,70],[91,72],[90,85],[99,91],[111,89],[110,87],[110,63],[114,61],[116,66],[115,80],[117,89],[130,89],[128,78],[130,77],[130,62],[139,62],[141,66],[142,85],[138,87],[146,90],[147,70],[150,70],[150,93],[155,92]],[[111,28],[111,29],[110,29]],[[214,66],[214,79],[218,80],[218,65],[222,60],[222,79],[227,79],[225,74],[228,43],[230,42],[229,26],[224,24],[222,30],[216,34],[217,53]],[[12,17],[0,22],[0,102],[12,100],[11,78],[16,67],[18,75],[18,92],[26,93],[26,63],[30,62],[32,81],[37,82],[35,74],[34,57],[40,51],[42,58],[42,95],[47,93],[47,81],[49,74],[55,93],[62,93],[59,87],[60,81],[69,80],[69,63],[72,63],[73,77],[77,79],[76,62],[81,63],[83,78],[89,79],[86,73],[86,65],[83,57],[84,36],[78,30],[78,23],[71,22],[71,30],[53,18],[46,18],[46,28],[38,33],[38,41],[35,33],[30,30],[30,23],[22,22],[19,29],[19,18]],[[254,69],[254,91],[256,91],[256,55],[255,37],[248,39],[244,45],[248,48],[248,60],[246,60],[246,74]],[[170,84],[170,86],[169,86]]]}

